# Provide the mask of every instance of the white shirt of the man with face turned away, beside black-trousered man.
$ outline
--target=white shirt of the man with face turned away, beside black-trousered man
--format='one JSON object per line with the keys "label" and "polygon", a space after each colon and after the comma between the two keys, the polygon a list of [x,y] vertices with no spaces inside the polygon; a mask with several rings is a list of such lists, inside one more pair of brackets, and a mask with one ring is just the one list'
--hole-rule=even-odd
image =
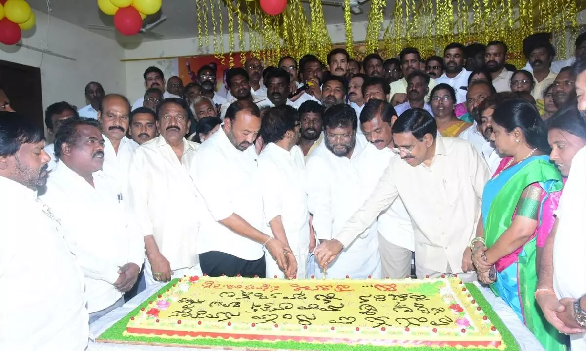
{"label": "white shirt of the man with face turned away, beside black-trousered man", "polygon": [[[263,190],[263,232],[272,235],[269,222],[281,216],[289,247],[297,260],[297,277],[303,278],[309,250],[309,211],[305,194],[305,161],[301,147],[287,151],[277,144],[268,144],[258,156],[261,187]],[[277,262],[265,254],[267,278],[283,278]]]}

